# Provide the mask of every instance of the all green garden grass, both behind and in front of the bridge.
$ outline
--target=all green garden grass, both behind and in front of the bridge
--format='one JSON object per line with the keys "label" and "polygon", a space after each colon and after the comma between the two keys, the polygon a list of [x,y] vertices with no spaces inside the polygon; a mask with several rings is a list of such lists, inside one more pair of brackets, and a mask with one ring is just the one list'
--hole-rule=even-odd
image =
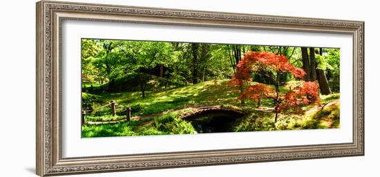
{"label": "all green garden grass, both behind and in front of the bridge", "polygon": [[[297,82],[289,82],[281,88],[287,91],[287,87],[296,86]],[[152,115],[142,120],[130,122],[118,122],[113,124],[84,125],[82,137],[108,137],[108,136],[144,136],[144,135],[168,135],[198,133],[191,122],[182,120],[182,115],[194,111],[187,106],[220,105],[223,108],[243,111],[245,116],[237,118],[231,124],[232,131],[272,131],[292,129],[327,129],[339,128],[339,93],[321,95],[321,104],[330,102],[323,110],[317,105],[303,107],[305,113],[279,114],[278,121],[274,122],[274,113],[266,113],[252,109],[256,102],[247,100],[245,106],[240,105],[236,88],[227,85],[227,80],[213,80],[182,86],[160,92],[146,92],[142,97],[140,92],[99,93],[87,95],[97,105],[108,104],[115,100],[117,104],[117,116],[111,115],[111,109],[94,111],[86,116],[87,121],[120,120],[125,115],[120,113],[126,106],[131,106],[132,115],[151,115],[171,110],[162,115]],[[335,101],[337,100],[337,101]],[[273,107],[272,100],[261,100],[262,107]],[[178,109],[178,111],[175,111]]]}

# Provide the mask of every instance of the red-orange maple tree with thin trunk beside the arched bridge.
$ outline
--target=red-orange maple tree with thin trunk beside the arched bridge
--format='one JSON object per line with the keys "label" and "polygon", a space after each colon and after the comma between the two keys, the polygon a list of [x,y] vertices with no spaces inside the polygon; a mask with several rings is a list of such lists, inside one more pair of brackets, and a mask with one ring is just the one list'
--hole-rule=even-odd
{"label": "red-orange maple tree with thin trunk beside the arched bridge", "polygon": [[[293,77],[303,80],[305,71],[293,66],[287,57],[266,52],[245,53],[243,59],[236,65],[237,71],[229,81],[230,85],[240,88],[240,100],[255,100],[260,106],[261,97],[270,98],[274,101],[274,112],[277,122],[278,113],[283,109],[300,109],[302,104],[312,104],[319,102],[319,88],[315,82],[303,82],[301,86],[289,89],[287,93],[280,92],[279,75],[292,73]],[[267,77],[272,86],[267,84],[249,85],[245,90],[245,85],[252,81],[251,74],[255,73]]]}

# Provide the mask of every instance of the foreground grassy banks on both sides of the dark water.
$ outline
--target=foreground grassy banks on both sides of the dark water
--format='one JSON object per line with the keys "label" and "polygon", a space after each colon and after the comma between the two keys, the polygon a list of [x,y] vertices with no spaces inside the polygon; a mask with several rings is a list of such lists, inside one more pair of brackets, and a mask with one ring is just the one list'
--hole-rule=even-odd
{"label": "foreground grassy banks on both sides of the dark water", "polygon": [[[241,132],[339,128],[339,110],[339,102],[335,100],[322,110],[314,106],[305,111],[304,115],[283,113],[278,118],[278,122],[274,123],[274,113],[244,109],[245,116],[231,120],[227,129],[229,132]],[[82,138],[202,133],[198,132],[196,124],[182,119],[182,115],[191,111],[191,109],[181,109],[129,122],[85,124],[82,127]],[[207,123],[212,119],[206,117],[196,122]]]}

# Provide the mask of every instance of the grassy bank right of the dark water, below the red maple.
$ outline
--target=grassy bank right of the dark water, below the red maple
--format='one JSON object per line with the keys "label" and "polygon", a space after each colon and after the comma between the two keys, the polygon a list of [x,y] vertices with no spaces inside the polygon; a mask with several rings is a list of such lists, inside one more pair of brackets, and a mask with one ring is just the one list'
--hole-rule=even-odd
{"label": "grassy bank right of the dark water, below the red maple", "polygon": [[[338,100],[338,102],[332,102]],[[280,113],[274,123],[274,113],[264,113],[246,108],[245,117],[234,124],[234,131],[271,131],[299,129],[331,129],[340,126],[339,93],[321,96],[323,109],[316,105],[304,107],[304,114]]]}

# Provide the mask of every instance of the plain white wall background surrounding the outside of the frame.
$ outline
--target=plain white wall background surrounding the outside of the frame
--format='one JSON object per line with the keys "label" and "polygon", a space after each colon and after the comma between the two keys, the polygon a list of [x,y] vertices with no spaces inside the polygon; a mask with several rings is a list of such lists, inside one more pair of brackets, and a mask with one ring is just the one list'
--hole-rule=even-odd
{"label": "plain white wall background surrounding the outside of the frame", "polygon": [[[82,2],[365,21],[365,156],[79,176],[379,176],[380,97],[374,72],[380,64],[380,10],[376,1]],[[0,176],[35,176],[35,1],[3,1],[0,26]]]}

